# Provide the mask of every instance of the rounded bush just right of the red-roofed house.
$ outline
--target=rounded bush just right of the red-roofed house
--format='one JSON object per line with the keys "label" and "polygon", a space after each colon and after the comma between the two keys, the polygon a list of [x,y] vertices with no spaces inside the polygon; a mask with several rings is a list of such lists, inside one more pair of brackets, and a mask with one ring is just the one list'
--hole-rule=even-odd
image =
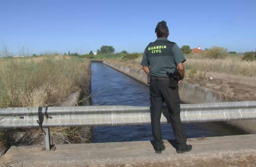
{"label": "rounded bush just right of the red-roofed house", "polygon": [[211,47],[207,51],[204,52],[204,56],[206,58],[225,58],[228,56],[228,49],[224,47]]}

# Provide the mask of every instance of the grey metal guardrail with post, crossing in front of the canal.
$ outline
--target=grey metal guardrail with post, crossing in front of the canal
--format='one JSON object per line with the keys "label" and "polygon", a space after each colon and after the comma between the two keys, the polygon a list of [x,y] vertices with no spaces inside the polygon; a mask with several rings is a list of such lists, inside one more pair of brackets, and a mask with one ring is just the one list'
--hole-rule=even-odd
{"label": "grey metal guardrail with post, crossing in front of the canal", "polygon": [[[162,112],[161,123],[169,123],[167,108],[163,108]],[[256,119],[256,102],[181,105],[181,121],[183,123],[252,119]],[[74,106],[0,109],[0,130],[39,127],[39,125],[44,127],[46,150],[50,150],[49,127],[143,124],[151,124],[149,107]]]}

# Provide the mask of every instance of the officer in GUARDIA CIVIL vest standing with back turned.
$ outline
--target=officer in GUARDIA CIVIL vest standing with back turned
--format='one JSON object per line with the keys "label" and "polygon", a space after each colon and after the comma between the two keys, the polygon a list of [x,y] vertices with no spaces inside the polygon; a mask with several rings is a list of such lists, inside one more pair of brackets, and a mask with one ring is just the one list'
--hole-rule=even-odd
{"label": "officer in GUARDIA CIVIL vest standing with back turned", "polygon": [[177,44],[167,40],[169,29],[166,22],[159,22],[155,33],[157,40],[149,43],[146,47],[141,62],[142,69],[150,75],[149,90],[154,149],[158,154],[165,150],[160,127],[161,108],[165,102],[176,138],[176,152],[185,153],[192,150],[192,145],[186,144],[187,136],[181,123],[178,83],[181,83],[184,78],[183,62],[186,59]]}

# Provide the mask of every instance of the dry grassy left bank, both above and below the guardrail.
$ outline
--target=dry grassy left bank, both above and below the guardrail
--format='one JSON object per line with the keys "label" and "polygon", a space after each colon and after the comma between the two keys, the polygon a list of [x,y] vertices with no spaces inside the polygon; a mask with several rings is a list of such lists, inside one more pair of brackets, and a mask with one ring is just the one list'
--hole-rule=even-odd
{"label": "dry grassy left bank, both above and below the guardrail", "polygon": [[[0,58],[0,108],[58,106],[69,93],[90,82],[90,61],[76,56]],[[52,128],[55,144],[86,140],[83,130]],[[0,131],[0,156],[11,145],[43,144],[40,129]]]}

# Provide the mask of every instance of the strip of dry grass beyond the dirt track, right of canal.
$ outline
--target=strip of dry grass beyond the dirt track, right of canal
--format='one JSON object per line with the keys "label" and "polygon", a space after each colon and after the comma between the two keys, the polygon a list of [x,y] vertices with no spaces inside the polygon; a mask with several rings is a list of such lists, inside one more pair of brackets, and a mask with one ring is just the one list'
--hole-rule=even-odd
{"label": "strip of dry grass beyond the dirt track, right of canal", "polygon": [[[241,56],[227,56],[225,59],[210,59],[204,55],[185,55],[187,61],[185,68],[197,71],[214,71],[218,73],[234,74],[240,76],[256,76],[256,61],[243,61]],[[141,70],[142,56],[134,60],[108,59],[125,67]]]}

